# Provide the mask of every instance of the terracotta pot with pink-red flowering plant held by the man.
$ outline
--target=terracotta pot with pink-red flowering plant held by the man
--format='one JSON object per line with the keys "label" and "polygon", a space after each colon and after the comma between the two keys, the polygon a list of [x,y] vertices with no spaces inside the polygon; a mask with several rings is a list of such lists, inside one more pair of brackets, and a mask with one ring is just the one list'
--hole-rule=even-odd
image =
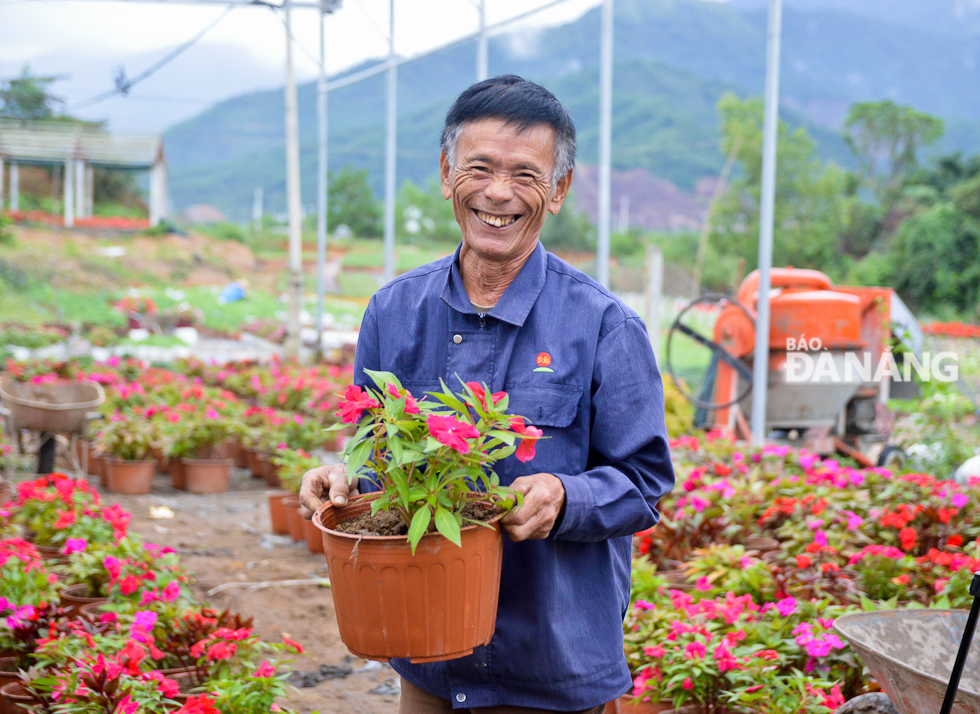
{"label": "terracotta pot with pink-red flowering plant held by the man", "polygon": [[[491,396],[475,382],[460,394],[443,384],[431,399],[417,400],[393,374],[366,372],[377,389],[353,385],[341,400],[342,421],[359,424],[344,457],[350,479],[373,482],[380,492],[344,508],[328,501],[314,514],[341,639],[369,659],[465,656],[493,635],[503,549],[498,521],[518,496],[500,486],[493,464],[515,452],[532,458],[541,431],[507,413],[506,394]],[[375,574],[382,562],[392,574],[383,583]],[[399,569],[411,585],[395,577]],[[457,571],[465,577],[445,577]],[[420,591],[427,595],[403,595]],[[429,601],[444,603],[446,612],[428,612]],[[450,619],[458,629],[445,629]]]}

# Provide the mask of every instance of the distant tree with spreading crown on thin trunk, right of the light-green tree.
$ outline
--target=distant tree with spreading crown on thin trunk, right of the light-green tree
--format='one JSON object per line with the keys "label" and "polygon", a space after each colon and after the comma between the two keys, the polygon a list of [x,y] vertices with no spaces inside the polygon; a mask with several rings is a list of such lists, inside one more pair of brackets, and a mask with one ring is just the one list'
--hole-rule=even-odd
{"label": "distant tree with spreading crown on thin trunk, right of the light-green tree", "polygon": [[894,206],[918,166],[918,150],[943,135],[943,120],[890,99],[851,105],[844,139],[861,162],[868,188],[884,213]]}

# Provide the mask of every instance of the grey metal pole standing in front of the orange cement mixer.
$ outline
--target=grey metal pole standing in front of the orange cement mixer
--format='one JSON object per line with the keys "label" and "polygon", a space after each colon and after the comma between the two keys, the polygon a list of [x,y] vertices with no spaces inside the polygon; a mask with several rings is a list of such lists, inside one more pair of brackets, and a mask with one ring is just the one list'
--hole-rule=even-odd
{"label": "grey metal pole standing in front of the orange cement mixer", "polygon": [[766,106],[762,125],[762,205],[759,214],[759,292],[752,363],[752,443],[766,440],[766,397],[769,379],[769,289],[772,285],[772,236],[776,207],[776,140],[779,128],[779,42],[783,2],[769,0],[766,38]]}

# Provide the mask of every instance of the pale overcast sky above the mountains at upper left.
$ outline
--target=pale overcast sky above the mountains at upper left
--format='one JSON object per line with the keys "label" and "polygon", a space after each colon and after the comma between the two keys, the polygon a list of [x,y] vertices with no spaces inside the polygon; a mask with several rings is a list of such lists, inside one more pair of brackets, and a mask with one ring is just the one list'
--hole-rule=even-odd
{"label": "pale overcast sky above the mountains at upper left", "polygon": [[[548,0],[487,0],[493,24]],[[517,27],[558,25],[580,17],[599,0],[567,0]],[[337,72],[387,53],[389,0],[343,0],[327,18],[327,68]],[[43,74],[64,75],[52,85],[72,113],[108,119],[117,131],[160,131],[210,104],[243,92],[281,86],[285,34],[280,13],[268,8],[232,10],[193,47],[127,97],[94,106],[80,102],[111,89],[118,67],[134,77],[187,42],[225,12],[220,5],[0,0],[0,78],[25,63]],[[293,11],[300,81],[316,76],[318,12]],[[395,50],[411,54],[477,29],[472,0],[396,0]],[[490,68],[491,73],[493,68]]]}

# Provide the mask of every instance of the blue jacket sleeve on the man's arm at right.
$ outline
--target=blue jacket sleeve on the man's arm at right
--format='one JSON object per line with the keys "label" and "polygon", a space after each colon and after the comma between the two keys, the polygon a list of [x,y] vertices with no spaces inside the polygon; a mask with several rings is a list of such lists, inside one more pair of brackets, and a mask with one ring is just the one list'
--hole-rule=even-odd
{"label": "blue jacket sleeve on the man's arm at right", "polygon": [[660,520],[657,502],[674,487],[664,390],[643,322],[628,317],[599,340],[592,378],[589,469],[555,474],[564,515],[551,537],[600,541]]}

